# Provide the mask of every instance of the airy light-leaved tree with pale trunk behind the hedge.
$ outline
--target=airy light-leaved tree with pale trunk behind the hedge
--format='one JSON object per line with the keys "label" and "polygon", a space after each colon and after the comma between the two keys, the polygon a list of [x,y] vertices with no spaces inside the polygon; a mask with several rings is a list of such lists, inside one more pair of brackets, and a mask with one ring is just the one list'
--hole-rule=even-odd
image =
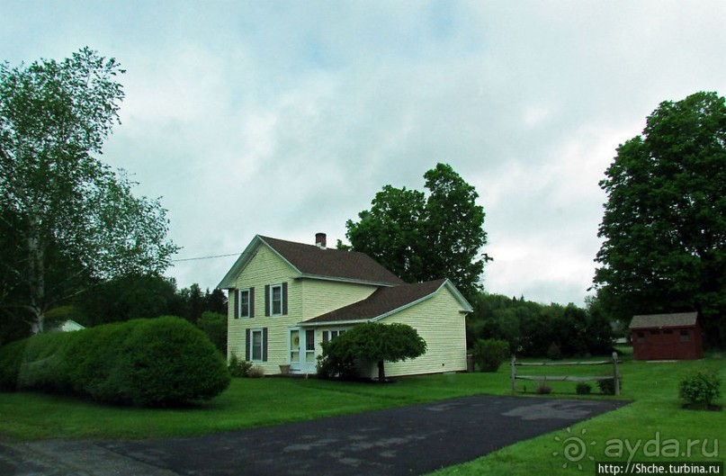
{"label": "airy light-leaved tree with pale trunk behind the hedge", "polygon": [[88,280],[159,273],[177,247],[166,211],[96,156],[119,121],[114,59],[81,49],[62,61],[0,65],[3,308],[43,329],[50,307]]}

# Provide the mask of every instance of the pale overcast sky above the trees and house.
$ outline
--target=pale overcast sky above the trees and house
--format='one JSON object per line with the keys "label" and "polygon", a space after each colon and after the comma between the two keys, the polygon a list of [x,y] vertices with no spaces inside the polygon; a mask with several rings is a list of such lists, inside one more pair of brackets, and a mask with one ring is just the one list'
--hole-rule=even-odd
{"label": "pale overcast sky above the trees and house", "polygon": [[[179,259],[345,240],[385,184],[473,184],[488,292],[582,304],[598,182],[661,101],[726,93],[726,2],[0,0],[0,59],[83,46],[126,99],[103,160],[162,197]],[[184,261],[216,286],[235,256]]]}

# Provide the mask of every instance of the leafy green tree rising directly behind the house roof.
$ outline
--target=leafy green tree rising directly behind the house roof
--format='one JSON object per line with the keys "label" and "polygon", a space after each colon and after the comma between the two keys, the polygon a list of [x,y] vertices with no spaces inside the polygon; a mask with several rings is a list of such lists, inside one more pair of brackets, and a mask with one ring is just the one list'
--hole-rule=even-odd
{"label": "leafy green tree rising directly behind the house roof", "polygon": [[447,277],[467,296],[481,288],[490,259],[479,194],[452,166],[438,164],[424,175],[429,193],[386,185],[371,210],[345,223],[346,237],[408,283]]}

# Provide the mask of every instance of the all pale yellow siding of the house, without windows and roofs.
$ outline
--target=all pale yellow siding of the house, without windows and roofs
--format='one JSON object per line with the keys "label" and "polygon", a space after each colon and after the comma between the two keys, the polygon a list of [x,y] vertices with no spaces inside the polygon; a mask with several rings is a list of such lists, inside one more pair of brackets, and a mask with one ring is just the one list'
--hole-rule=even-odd
{"label": "all pale yellow siding of the house, without windows and roofs", "polygon": [[[309,327],[299,328],[300,322],[315,318],[331,310],[340,309],[368,298],[378,287],[362,283],[343,283],[322,279],[301,278],[300,272],[282,259],[264,243],[254,250],[252,257],[237,276],[234,286],[239,290],[255,288],[254,317],[235,319],[234,293],[229,296],[228,353],[246,359],[246,331],[267,329],[267,359],[254,362],[264,373],[280,373],[281,364],[291,362],[291,328],[297,330],[302,342]],[[264,316],[264,287],[287,283],[287,311],[283,316]],[[400,322],[416,328],[426,340],[426,355],[402,363],[385,364],[386,375],[417,373],[460,372],[466,370],[466,331],[462,303],[447,286],[441,287],[425,301],[381,319],[384,324]],[[315,331],[315,355],[322,352],[323,331],[351,328],[351,325],[323,325]],[[303,346],[300,348],[304,353]],[[304,355],[304,354],[303,354]],[[303,359],[304,361],[304,359]],[[315,372],[314,365],[294,364],[293,371]],[[371,376],[377,376],[375,366]]]}

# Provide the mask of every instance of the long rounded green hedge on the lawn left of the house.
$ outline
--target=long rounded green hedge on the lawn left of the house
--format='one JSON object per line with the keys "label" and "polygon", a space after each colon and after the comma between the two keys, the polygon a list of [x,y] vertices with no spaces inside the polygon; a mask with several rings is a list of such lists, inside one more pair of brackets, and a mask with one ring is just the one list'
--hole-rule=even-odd
{"label": "long rounded green hedge on the lawn left of the house", "polygon": [[164,407],[227,389],[227,363],[192,324],[171,316],[30,337],[0,348],[0,388],[75,393]]}

